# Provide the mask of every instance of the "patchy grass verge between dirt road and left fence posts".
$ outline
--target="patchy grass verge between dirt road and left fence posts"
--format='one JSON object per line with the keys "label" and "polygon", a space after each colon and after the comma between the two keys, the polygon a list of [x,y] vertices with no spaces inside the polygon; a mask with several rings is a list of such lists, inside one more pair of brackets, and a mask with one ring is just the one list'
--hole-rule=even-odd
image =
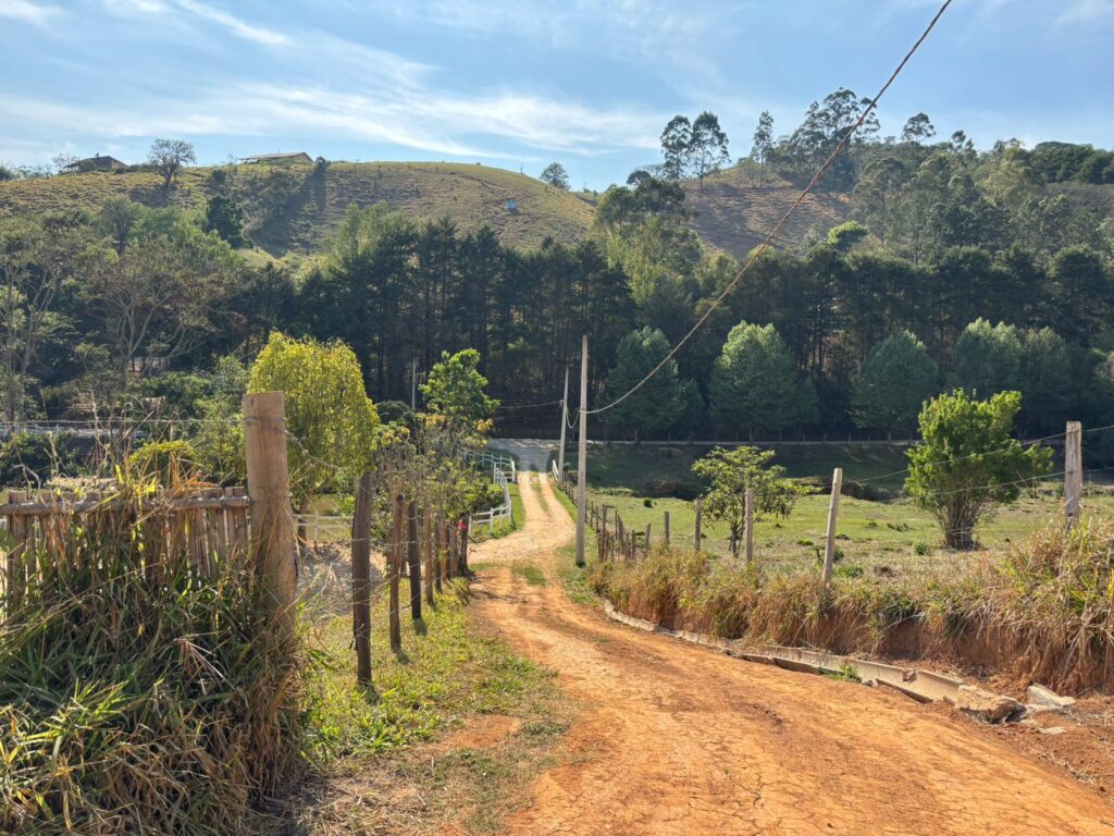
{"label": "patchy grass verge between dirt road and left fence posts", "polygon": [[553,765],[568,725],[553,673],[485,634],[466,597],[458,582],[423,622],[404,618],[399,655],[377,603],[369,692],[354,683],[351,620],[320,630],[309,686],[320,772],[307,788],[307,834],[497,833]]}

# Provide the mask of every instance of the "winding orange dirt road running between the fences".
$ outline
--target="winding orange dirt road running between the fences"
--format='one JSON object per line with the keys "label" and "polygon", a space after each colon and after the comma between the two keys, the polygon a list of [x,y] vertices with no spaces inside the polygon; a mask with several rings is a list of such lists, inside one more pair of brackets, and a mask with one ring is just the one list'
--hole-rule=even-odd
{"label": "winding orange dirt road running between the fences", "polygon": [[[1097,794],[967,720],[576,606],[555,577],[573,524],[547,483],[521,494],[525,529],[475,553],[486,564],[476,606],[519,653],[556,669],[582,711],[568,757],[502,833],[1114,836],[1114,807]],[[507,564],[520,560],[548,584],[514,574]]]}

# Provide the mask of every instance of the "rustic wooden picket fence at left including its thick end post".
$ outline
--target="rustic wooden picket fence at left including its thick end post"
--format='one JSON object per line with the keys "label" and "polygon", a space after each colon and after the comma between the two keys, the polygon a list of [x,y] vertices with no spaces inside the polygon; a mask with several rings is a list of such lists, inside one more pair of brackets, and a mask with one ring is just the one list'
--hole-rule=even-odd
{"label": "rustic wooden picket fence at left including its thick end post", "polygon": [[106,538],[128,537],[134,546],[126,552],[128,560],[153,581],[185,564],[202,583],[222,563],[241,563],[263,584],[263,600],[278,621],[292,625],[296,566],[282,392],[245,396],[244,447],[246,489],[9,492],[0,505],[7,528],[0,563],[3,600],[14,602],[63,561],[97,571],[96,555],[74,547],[74,534],[80,529]]}

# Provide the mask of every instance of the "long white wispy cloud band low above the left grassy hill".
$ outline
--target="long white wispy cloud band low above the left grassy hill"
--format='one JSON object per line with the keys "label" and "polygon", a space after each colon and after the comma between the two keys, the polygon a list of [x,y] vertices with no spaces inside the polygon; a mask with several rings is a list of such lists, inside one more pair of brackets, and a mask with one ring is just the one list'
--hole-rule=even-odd
{"label": "long white wispy cloud band low above the left grassy hill", "polygon": [[[469,158],[505,157],[507,143],[593,156],[656,146],[661,114],[586,107],[518,93],[456,95],[382,85],[359,94],[328,87],[241,84],[144,103],[94,106],[0,96],[0,121],[92,137],[343,136]],[[495,146],[495,147],[492,147]]]}

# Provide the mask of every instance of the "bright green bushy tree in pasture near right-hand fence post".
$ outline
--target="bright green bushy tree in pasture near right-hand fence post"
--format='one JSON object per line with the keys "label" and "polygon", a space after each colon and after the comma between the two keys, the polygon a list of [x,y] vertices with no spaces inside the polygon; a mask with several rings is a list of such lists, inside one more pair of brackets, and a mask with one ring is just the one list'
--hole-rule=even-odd
{"label": "bright green bushy tree in pasture near right-hand fence post", "polygon": [[936,517],[949,547],[974,548],[975,527],[1051,469],[1051,449],[1012,437],[1020,408],[1017,391],[973,400],[956,389],[921,410],[924,440],[906,454],[906,493]]}

